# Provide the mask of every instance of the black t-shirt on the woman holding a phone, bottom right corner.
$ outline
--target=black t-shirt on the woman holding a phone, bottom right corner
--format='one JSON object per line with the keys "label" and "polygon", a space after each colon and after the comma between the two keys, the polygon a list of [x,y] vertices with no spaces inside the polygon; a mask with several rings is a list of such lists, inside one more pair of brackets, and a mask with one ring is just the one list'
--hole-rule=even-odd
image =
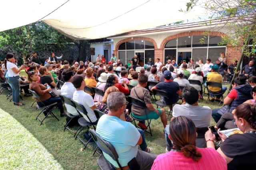
{"label": "black t-shirt on the woman holding a phone, bottom right corner", "polygon": [[228,170],[256,169],[256,134],[244,133],[230,135],[222,145],[222,152],[233,160]]}

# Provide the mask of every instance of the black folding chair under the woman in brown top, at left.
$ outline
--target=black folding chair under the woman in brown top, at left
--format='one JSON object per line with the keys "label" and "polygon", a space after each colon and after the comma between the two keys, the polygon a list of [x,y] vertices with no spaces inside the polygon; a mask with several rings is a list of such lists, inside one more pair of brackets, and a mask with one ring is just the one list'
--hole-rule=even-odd
{"label": "black folding chair under the woman in brown top, at left", "polygon": [[[46,119],[46,117],[48,117],[48,115],[52,115],[53,117],[55,117],[58,121],[60,121],[55,115],[54,113],[52,113],[52,110],[54,108],[54,106],[57,106],[57,102],[54,102],[53,104],[50,104],[50,105],[45,105],[41,100],[40,100],[40,97],[38,96],[38,94],[33,91],[33,90],[30,90],[28,89],[28,91],[33,95],[33,97],[37,100],[39,100],[44,106],[43,107],[40,107],[37,105],[38,109],[42,109],[42,111],[38,114],[38,116],[36,117],[36,120],[38,119],[41,123],[40,123],[40,126],[42,125],[44,119]],[[44,116],[44,119],[40,119],[39,118],[39,115],[43,112],[43,111],[47,111],[47,114]]]}

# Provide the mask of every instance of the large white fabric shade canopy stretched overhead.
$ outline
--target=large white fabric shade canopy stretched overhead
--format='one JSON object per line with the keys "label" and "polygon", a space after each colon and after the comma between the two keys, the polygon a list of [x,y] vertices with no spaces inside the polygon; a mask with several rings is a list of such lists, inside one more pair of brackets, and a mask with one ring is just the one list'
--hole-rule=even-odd
{"label": "large white fabric shade canopy stretched overhead", "polygon": [[44,21],[72,39],[97,39],[205,14],[189,0],[1,0],[0,31]]}

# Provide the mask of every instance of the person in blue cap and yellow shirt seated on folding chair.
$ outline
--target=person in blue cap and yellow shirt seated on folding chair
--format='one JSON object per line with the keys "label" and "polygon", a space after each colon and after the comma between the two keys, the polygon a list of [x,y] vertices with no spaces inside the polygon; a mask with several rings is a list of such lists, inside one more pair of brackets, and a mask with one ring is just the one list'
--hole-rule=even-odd
{"label": "person in blue cap and yellow shirt seated on folding chair", "polygon": [[[218,73],[218,69],[219,66],[217,64],[214,64],[213,66],[210,66],[211,73],[209,73],[207,75],[207,81],[208,82],[218,82],[218,83],[222,83],[222,75],[220,75]],[[208,90],[212,93],[219,93],[220,92],[220,88],[219,87],[212,87],[212,86],[208,86]],[[224,94],[227,90],[226,86],[222,86],[222,94]],[[220,102],[220,98],[221,98],[221,94],[217,95],[216,98],[214,99],[214,95],[210,94],[210,96],[212,97],[211,102],[214,102],[214,100],[216,102]]]}

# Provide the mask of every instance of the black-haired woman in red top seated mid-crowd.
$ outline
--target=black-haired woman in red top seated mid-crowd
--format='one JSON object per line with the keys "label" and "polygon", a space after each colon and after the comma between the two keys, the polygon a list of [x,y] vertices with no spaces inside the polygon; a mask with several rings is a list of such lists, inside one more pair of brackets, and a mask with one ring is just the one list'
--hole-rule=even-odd
{"label": "black-haired woman in red top seated mid-crowd", "polygon": [[116,86],[120,92],[123,92],[124,94],[129,94],[129,88],[126,85],[126,81],[123,81],[123,84],[124,87],[122,86],[122,84],[118,83],[118,78],[114,74],[111,74],[110,76],[108,76],[104,91],[106,91],[111,86]]}

